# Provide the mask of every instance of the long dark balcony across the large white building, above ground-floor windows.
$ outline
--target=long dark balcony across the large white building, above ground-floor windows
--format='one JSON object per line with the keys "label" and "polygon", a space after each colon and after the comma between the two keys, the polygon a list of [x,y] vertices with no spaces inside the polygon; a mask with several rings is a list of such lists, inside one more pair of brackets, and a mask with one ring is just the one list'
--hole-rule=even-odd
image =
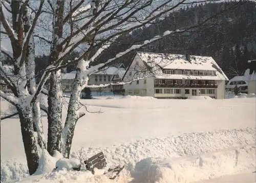
{"label": "long dark balcony across the large white building, above ground-floor windows", "polygon": [[160,88],[217,88],[217,84],[155,84],[155,87]]}

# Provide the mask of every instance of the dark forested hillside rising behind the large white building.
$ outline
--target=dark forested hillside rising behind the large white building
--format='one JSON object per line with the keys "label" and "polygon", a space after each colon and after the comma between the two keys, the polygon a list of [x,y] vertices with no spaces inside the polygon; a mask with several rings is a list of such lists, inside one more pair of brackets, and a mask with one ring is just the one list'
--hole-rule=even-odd
{"label": "dark forested hillside rising behind the large white building", "polygon": [[[207,3],[184,7],[169,14],[158,24],[144,27],[120,38],[119,45],[105,51],[98,59],[112,58],[123,48],[129,48],[140,40],[160,35],[166,30],[184,30],[190,25],[199,25],[223,8],[236,2]],[[229,11],[211,18],[206,25],[190,29],[183,34],[170,35],[140,51],[157,53],[191,54],[213,57],[229,78],[241,75],[250,67],[248,59],[256,59],[256,4],[244,1]],[[119,61],[129,64],[134,52]]]}

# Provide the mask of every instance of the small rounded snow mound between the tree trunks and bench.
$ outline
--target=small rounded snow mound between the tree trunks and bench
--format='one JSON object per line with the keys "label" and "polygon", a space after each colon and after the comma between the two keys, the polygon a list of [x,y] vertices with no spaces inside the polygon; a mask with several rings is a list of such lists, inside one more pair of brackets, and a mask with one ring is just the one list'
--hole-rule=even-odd
{"label": "small rounded snow mound between the tree trunks and bench", "polygon": [[68,170],[73,171],[73,168],[79,168],[81,165],[80,161],[78,159],[66,159],[61,158],[56,162],[56,169],[55,170]]}

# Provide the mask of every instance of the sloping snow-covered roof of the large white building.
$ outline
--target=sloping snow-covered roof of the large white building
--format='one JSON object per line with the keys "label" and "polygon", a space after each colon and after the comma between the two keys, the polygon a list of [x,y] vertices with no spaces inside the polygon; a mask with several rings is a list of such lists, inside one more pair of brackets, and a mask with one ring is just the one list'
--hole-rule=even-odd
{"label": "sloping snow-covered roof of the large white building", "polygon": [[[188,61],[186,55],[147,52],[137,52],[137,54],[145,64],[153,68],[154,75],[159,78],[228,80],[225,73],[212,57],[191,55],[190,61]],[[162,73],[161,68],[216,71],[217,76],[165,75]]]}

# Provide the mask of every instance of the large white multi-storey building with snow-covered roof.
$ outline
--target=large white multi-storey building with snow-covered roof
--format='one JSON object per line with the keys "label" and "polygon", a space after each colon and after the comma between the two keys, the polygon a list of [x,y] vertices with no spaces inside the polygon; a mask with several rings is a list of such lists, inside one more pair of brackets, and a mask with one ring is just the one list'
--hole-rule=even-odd
{"label": "large white multi-storey building with snow-covered roof", "polygon": [[125,95],[159,99],[224,99],[227,80],[212,57],[144,52],[137,52],[122,78]]}

